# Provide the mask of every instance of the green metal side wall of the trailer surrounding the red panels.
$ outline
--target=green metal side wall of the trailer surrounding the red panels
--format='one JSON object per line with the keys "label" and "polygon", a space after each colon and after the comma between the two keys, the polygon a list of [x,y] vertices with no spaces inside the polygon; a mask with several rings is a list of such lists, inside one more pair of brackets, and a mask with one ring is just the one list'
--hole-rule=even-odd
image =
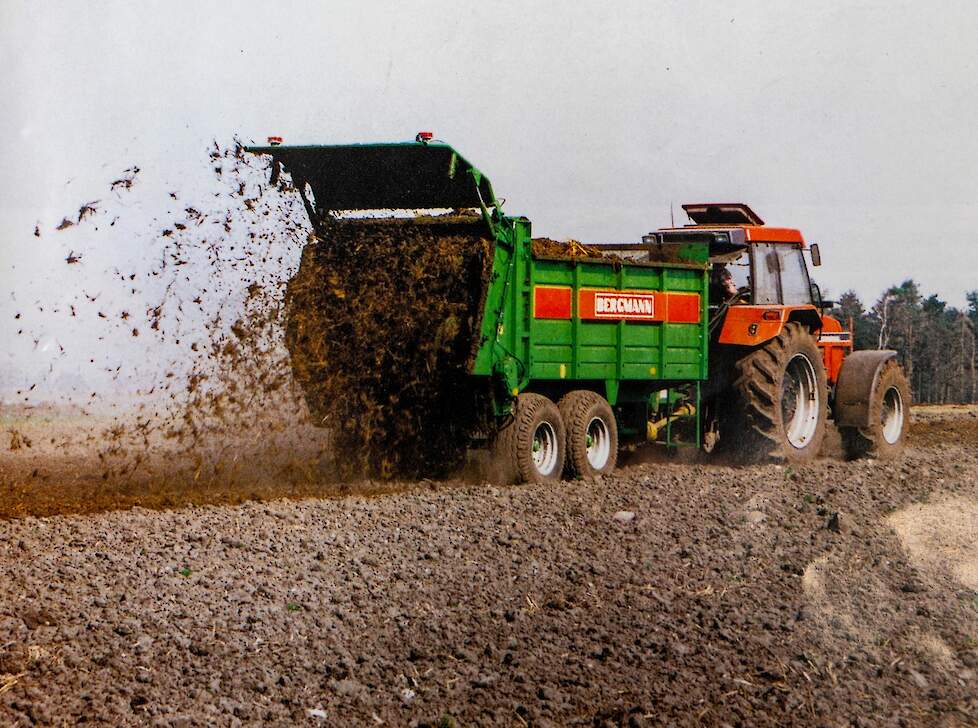
{"label": "green metal side wall of the trailer surrounding the red panels", "polygon": [[[537,259],[531,253],[530,223],[525,218],[502,217],[496,233],[474,374],[499,377],[509,396],[534,382],[604,381],[612,401],[621,381],[647,383],[651,392],[663,381],[707,378],[705,245],[688,246],[687,264]],[[569,287],[571,318],[533,318],[535,286]],[[577,310],[578,294],[589,288],[697,293],[699,321],[584,320]]]}

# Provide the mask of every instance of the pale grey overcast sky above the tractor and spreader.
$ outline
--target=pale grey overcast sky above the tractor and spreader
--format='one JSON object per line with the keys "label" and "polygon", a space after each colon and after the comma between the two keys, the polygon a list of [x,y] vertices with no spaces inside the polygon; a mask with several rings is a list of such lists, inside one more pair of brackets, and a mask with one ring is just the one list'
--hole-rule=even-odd
{"label": "pale grey overcast sky above the tractor and spreader", "polygon": [[47,231],[132,163],[162,189],[215,137],[431,129],[538,235],[636,240],[670,203],[745,201],[821,244],[833,294],[912,276],[963,305],[976,37],[964,1],[0,0],[0,285],[98,287]]}

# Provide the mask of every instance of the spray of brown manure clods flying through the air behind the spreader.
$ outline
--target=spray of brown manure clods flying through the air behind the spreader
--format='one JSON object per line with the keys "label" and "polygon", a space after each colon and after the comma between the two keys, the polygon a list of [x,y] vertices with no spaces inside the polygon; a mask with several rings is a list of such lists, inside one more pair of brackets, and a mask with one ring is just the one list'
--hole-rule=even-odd
{"label": "spray of brown manure clods flying through the air behind the spreader", "polygon": [[[179,205],[137,190],[131,166],[58,215],[58,257],[84,270],[18,311],[18,334],[50,361],[0,412],[0,519],[337,489],[329,437],[307,424],[284,346],[305,211],[239,141],[205,157],[222,174],[198,169],[189,191],[167,196]],[[120,237],[141,255],[107,257]]]}

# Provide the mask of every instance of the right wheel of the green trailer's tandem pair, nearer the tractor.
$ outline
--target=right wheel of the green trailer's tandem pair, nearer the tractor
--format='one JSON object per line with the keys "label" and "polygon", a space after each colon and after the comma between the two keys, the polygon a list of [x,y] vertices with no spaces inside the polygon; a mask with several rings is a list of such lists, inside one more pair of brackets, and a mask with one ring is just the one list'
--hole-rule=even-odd
{"label": "right wheel of the green trailer's tandem pair, nearer the tractor", "polygon": [[618,462],[618,423],[608,400],[597,392],[568,392],[557,404],[567,430],[564,471],[568,477],[607,475]]}

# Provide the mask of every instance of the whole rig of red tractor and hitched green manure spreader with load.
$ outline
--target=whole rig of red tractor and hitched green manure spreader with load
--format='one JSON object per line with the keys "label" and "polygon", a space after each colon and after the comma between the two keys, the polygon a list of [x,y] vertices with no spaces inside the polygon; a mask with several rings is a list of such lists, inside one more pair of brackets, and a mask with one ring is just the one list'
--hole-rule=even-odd
{"label": "whole rig of red tractor and hitched green manure spreader with load", "polygon": [[746,205],[686,205],[692,224],[634,244],[557,243],[428,134],[269,141],[248,151],[291,176],[314,228],[293,370],[368,471],[487,447],[510,479],[588,477],[643,441],[808,460],[830,416],[851,455],[902,446],[893,352],[853,354],[809,279],[817,246]]}

